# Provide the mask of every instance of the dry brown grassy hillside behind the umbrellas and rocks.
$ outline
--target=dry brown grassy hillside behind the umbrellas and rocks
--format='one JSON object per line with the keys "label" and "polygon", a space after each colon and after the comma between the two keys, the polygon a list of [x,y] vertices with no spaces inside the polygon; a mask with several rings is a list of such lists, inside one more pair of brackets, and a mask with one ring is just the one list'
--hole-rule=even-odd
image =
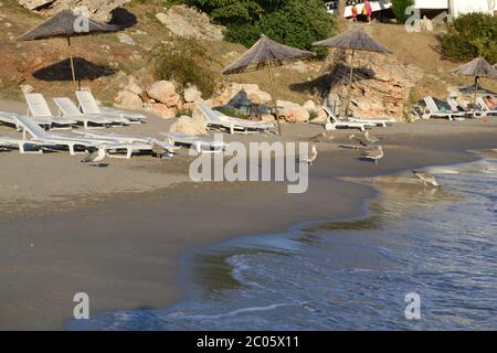
{"label": "dry brown grassy hillside behind the umbrellas and rocks", "polygon": [[[2,54],[0,55],[0,94],[2,96],[21,98],[21,84],[30,84],[36,90],[46,96],[72,95],[70,69],[66,58],[67,46],[64,39],[52,39],[35,42],[18,42],[15,39],[27,30],[40,23],[43,18],[33,14],[13,0],[0,0],[0,43]],[[163,11],[162,1],[133,1],[120,12],[120,17],[128,28],[124,31],[131,36],[136,45],[120,43],[117,33],[81,36],[73,39],[73,52],[75,57],[86,61],[85,73],[93,74],[92,79],[83,79],[83,86],[89,86],[96,95],[110,104],[119,87],[114,84],[116,73],[135,73],[141,67],[151,72],[152,54],[159,46],[166,49],[177,41],[166,28],[156,19],[155,14]],[[6,23],[9,23],[7,25]],[[339,22],[339,30],[345,30],[349,23]],[[379,42],[388,45],[394,51],[392,54],[404,64],[415,65],[424,71],[424,76],[413,90],[413,96],[435,95],[446,96],[447,86],[469,85],[470,78],[455,77],[447,74],[447,69],[457,65],[442,58],[440,54],[440,42],[436,34],[432,33],[406,33],[401,25],[376,23],[366,30]],[[263,90],[268,92],[269,86],[265,72],[255,72],[235,76],[222,76],[221,68],[235,60],[246,47],[241,44],[226,41],[204,42],[197,41],[198,45],[209,57],[208,68],[211,81],[216,85],[228,82],[258,84]],[[169,45],[169,46],[168,46]],[[50,71],[52,74],[38,75],[43,68],[55,65]],[[57,66],[59,65],[59,66]],[[295,69],[281,67],[276,69],[277,95],[287,100],[304,103],[309,98],[319,99],[319,92],[326,89],[326,65],[322,62],[314,62],[308,69]],[[166,71],[172,71],[169,66]],[[46,72],[46,71],[45,71]],[[60,81],[61,73],[67,73],[64,81]],[[91,75],[92,76],[92,75]],[[99,77],[98,77],[99,76]],[[484,81],[484,85],[497,90],[497,85]]]}

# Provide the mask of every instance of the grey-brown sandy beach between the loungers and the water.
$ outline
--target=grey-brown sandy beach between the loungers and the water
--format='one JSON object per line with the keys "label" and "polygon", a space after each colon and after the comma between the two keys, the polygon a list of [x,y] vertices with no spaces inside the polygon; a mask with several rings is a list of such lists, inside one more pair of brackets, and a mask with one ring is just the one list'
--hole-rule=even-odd
{"label": "grey-brown sandy beach between the loungers and the water", "polygon": [[[8,109],[24,108],[0,100],[0,110]],[[146,125],[113,132],[160,137],[168,128],[168,120],[150,116]],[[283,126],[285,141],[321,131],[311,124]],[[73,296],[81,291],[89,295],[92,312],[163,308],[183,295],[180,259],[186,252],[299,222],[360,216],[374,189],[342,176],[474,160],[468,150],[497,147],[497,118],[374,128],[385,150],[378,167],[359,160],[356,150],[339,148],[349,143],[350,133],[332,131],[332,140],[318,145],[321,153],[304,194],[287,194],[284,183],[192,183],[184,150],[172,160],[109,160],[104,169],[63,152],[0,153],[0,329],[64,329]],[[18,132],[0,127],[0,135]]]}

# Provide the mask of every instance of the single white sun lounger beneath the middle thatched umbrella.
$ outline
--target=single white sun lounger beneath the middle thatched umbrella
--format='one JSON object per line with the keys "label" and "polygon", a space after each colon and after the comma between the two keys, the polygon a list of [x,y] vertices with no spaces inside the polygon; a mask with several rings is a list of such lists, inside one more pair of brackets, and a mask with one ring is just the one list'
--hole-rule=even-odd
{"label": "single white sun lounger beneath the middle thatched umbrella", "polygon": [[248,121],[229,117],[204,105],[197,105],[211,128],[228,130],[230,133],[264,132],[274,129],[274,124]]}

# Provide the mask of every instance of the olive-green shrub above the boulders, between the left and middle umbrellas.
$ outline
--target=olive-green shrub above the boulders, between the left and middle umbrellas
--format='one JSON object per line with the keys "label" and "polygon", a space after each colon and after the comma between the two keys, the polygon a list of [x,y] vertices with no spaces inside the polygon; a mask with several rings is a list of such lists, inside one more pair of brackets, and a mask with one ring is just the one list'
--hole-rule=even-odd
{"label": "olive-green shrub above the boulders, between the left and middle umbrellas", "polygon": [[194,39],[176,38],[171,44],[156,50],[151,62],[156,78],[175,81],[181,90],[195,85],[208,98],[215,90],[212,58]]}

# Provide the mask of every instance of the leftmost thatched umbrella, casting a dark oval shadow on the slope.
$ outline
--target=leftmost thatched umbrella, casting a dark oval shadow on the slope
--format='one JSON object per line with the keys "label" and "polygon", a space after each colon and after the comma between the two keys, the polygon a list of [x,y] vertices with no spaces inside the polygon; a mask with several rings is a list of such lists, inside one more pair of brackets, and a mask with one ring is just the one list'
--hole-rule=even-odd
{"label": "leftmost thatched umbrella, casting a dark oval shadow on the slope", "polygon": [[62,10],[61,12],[54,14],[52,18],[36,25],[34,29],[22,34],[18,40],[35,41],[57,36],[66,38],[70,51],[73,84],[75,86],[76,74],[74,71],[73,53],[71,50],[71,36],[86,35],[98,32],[116,32],[118,30],[119,28],[117,25],[91,20],[85,17],[85,14],[77,14],[71,10]]}

